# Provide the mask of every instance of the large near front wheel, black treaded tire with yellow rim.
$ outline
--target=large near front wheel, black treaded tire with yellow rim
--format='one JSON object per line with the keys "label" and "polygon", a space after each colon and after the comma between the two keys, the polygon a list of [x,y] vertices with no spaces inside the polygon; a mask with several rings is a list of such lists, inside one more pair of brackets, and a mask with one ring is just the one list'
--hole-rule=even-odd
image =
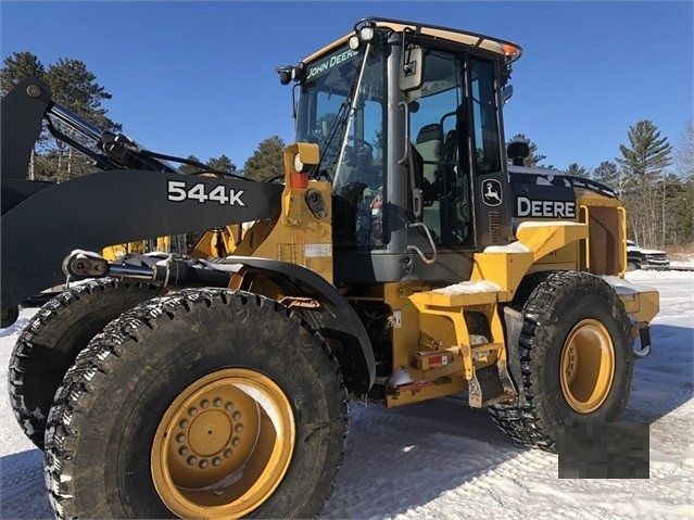
{"label": "large near front wheel, black treaded tire with yellow rim", "polygon": [[125,313],[77,357],[49,417],[46,480],[60,518],[311,518],[346,431],[338,364],[302,318],[185,290]]}

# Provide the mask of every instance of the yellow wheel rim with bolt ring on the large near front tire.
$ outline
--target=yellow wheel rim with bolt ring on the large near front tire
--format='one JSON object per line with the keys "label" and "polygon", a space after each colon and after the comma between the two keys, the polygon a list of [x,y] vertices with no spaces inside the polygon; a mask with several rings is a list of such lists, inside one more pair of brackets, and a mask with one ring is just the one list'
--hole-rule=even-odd
{"label": "yellow wheel rim with bolt ring on the large near front tire", "polygon": [[230,368],[184,390],[154,435],[151,469],[162,502],[181,518],[240,518],[263,504],[289,468],[289,399],[268,377]]}

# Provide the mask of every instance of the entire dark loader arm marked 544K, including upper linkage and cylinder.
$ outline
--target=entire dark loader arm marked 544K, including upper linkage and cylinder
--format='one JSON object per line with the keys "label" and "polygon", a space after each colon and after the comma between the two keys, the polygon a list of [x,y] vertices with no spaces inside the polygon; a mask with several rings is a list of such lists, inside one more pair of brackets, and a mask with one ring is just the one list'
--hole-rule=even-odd
{"label": "entire dark loader arm marked 544K, including upper linkage and cylinder", "polygon": [[[282,187],[239,176],[182,175],[123,135],[91,125],[51,100],[49,85],[22,79],[0,103],[2,315],[64,282],[60,265],[75,246],[200,231],[275,217]],[[26,180],[42,122],[56,139],[87,154],[103,172],[62,183]],[[83,144],[55,123],[80,135]],[[205,169],[205,165],[195,164]]]}

